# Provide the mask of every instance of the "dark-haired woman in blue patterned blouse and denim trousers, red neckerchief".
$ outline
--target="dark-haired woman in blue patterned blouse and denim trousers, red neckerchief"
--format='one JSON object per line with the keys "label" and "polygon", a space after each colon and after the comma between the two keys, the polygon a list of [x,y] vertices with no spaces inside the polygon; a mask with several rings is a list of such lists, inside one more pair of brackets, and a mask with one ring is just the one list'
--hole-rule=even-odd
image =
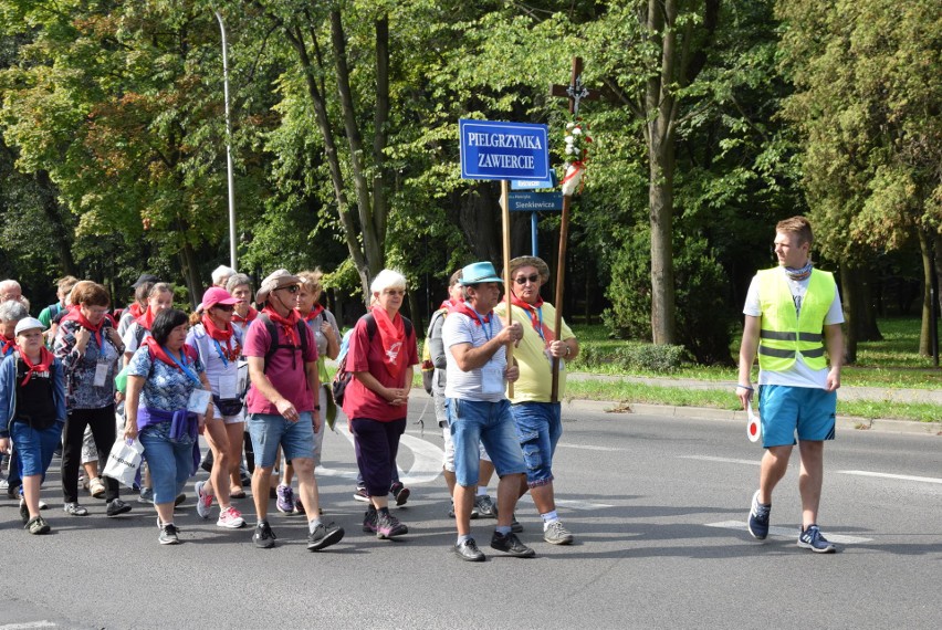
{"label": "dark-haired woman in blue patterned blouse and denim trousers, red neckerchief", "polygon": [[161,311],[150,336],[128,364],[126,439],[140,439],[154,481],[160,544],[179,543],[174,500],[199,465],[199,433],[212,418],[209,381],[197,353],[185,344],[189,319]]}

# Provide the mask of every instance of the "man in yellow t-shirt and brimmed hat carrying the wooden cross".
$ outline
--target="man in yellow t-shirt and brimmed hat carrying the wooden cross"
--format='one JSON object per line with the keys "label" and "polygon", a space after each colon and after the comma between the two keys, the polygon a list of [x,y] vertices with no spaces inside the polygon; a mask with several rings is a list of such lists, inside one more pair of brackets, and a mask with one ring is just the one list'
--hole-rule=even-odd
{"label": "man in yellow t-shirt and brimmed hat carrying the wooden cross", "polygon": [[[520,494],[530,491],[543,517],[543,539],[569,545],[573,535],[556,514],[553,493],[553,454],[563,433],[559,402],[551,402],[553,358],[559,359],[559,398],[566,387],[565,361],[579,354],[579,343],[564,322],[556,334],[556,309],[540,296],[540,287],[550,280],[550,267],[536,256],[510,261],[513,321],[523,325],[523,339],[514,350],[520,378],[510,398],[516,434],[526,461],[526,480]],[[494,312],[506,319],[506,303]]]}

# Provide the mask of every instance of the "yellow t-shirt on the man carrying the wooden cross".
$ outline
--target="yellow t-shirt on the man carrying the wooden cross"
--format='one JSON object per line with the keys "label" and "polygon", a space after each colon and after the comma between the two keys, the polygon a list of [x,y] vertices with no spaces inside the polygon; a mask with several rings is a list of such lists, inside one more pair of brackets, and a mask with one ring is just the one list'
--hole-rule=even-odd
{"label": "yellow t-shirt on the man carrying the wooden cross", "polygon": [[[502,319],[506,321],[505,301],[502,301],[494,308],[494,313]],[[553,364],[546,356],[545,349],[548,345],[543,337],[536,332],[531,324],[530,315],[520,306],[512,306],[513,321],[520,322],[523,326],[523,339],[520,346],[513,349],[513,358],[520,366],[520,379],[513,384],[513,398],[511,402],[550,402],[550,395],[553,391]],[[544,302],[541,307],[543,315],[543,326],[548,330],[553,330],[556,323],[556,308],[548,302]],[[572,339],[575,337],[573,330],[563,321],[563,335],[561,340]],[[559,400],[566,393],[566,369],[565,361],[559,359]]]}

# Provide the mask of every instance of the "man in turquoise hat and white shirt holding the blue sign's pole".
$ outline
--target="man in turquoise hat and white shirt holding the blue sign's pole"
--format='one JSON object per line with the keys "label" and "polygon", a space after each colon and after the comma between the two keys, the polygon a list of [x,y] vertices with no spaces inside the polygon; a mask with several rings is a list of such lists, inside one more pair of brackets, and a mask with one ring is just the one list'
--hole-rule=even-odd
{"label": "man in turquoise hat and white shirt holding the blue sign's pole", "polygon": [[504,326],[494,314],[503,281],[489,262],[469,264],[461,271],[464,302],[444,321],[442,343],[448,363],[447,398],[449,429],[454,442],[454,521],[458,527],[456,555],[462,560],[483,561],[484,554],[471,537],[471,507],[478,486],[481,441],[500,476],[498,526],[491,547],[521,558],[534,552],[512,531],[514,506],[526,464],[516,439],[507,381],[520,376],[507,365],[506,346],[523,337],[519,323]]}

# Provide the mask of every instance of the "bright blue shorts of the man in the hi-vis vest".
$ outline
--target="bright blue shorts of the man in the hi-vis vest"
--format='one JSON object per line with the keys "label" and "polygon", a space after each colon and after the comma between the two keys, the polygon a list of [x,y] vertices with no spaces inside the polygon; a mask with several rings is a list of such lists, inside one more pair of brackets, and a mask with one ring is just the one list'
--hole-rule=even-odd
{"label": "bright blue shorts of the man in the hi-vis vest", "polygon": [[762,445],[786,447],[799,440],[834,440],[837,391],[814,387],[763,385],[758,389]]}

